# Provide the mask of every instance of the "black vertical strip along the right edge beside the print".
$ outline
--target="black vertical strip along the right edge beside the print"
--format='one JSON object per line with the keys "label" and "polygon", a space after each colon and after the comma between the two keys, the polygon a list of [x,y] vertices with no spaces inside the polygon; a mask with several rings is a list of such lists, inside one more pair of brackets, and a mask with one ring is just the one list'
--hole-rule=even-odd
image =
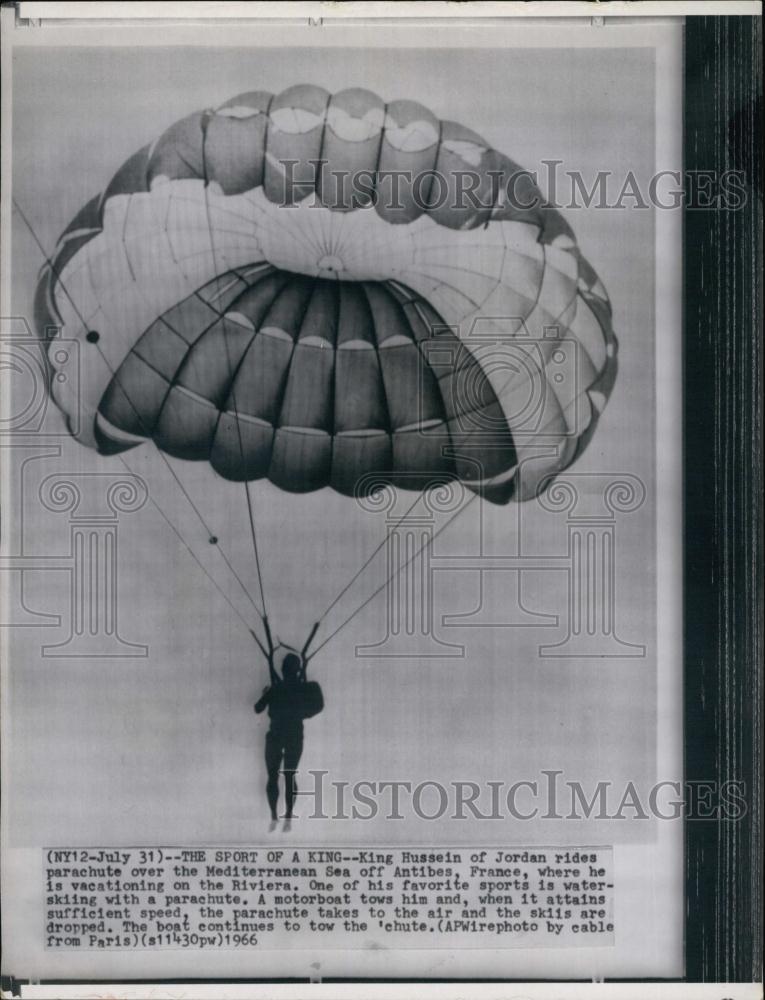
{"label": "black vertical strip along the right edge beside the print", "polygon": [[746,810],[686,821],[693,982],[762,975],[761,34],[685,28],[685,777]]}

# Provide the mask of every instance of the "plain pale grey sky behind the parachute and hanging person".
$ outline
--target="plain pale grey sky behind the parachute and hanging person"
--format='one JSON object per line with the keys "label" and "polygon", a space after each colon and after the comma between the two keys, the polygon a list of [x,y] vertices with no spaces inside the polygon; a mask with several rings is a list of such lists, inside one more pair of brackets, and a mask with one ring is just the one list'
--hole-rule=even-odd
{"label": "plain pale grey sky behind the parachute and hanging person", "polygon": [[[652,53],[617,50],[46,49],[14,54],[14,196],[48,249],[78,208],[101,191],[136,149],[184,115],[233,95],[279,92],[298,82],[336,91],[361,86],[387,100],[421,101],[462,122],[530,169],[544,160],[586,178],[632,170],[647,186],[654,159]],[[619,100],[613,100],[618,91]],[[620,342],[619,376],[595,438],[572,471],[630,473],[647,501],[617,523],[616,620],[620,637],[646,646],[636,659],[543,659],[540,643],[563,638],[567,577],[529,574],[528,607],[562,616],[558,629],[443,628],[464,657],[373,659],[359,644],[385,635],[382,598],[311,664],[326,709],[306,723],[301,770],[329,780],[504,780],[563,768],[585,784],[655,776],[655,504],[653,211],[569,211],[585,256],[608,289]],[[29,316],[41,256],[14,217],[13,307]],[[46,431],[60,434],[49,408]],[[53,471],[124,472],[118,459],[63,442]],[[183,509],[148,447],[128,456],[150,493],[183,525],[205,560],[198,523]],[[42,463],[40,463],[42,464]],[[241,487],[202,465],[176,463],[254,586]],[[30,471],[34,478],[37,475]],[[14,484],[17,485],[17,484]],[[25,490],[27,485],[25,484]],[[26,496],[24,544],[65,552],[65,515]],[[253,489],[266,594],[275,630],[299,643],[384,532],[382,515],[330,491],[304,497],[270,484]],[[11,517],[13,517],[13,511]],[[16,510],[18,515],[19,511]],[[521,509],[524,550],[566,550],[565,516],[536,503]],[[480,517],[480,520],[479,520]],[[519,508],[474,503],[437,541],[443,555],[513,552]],[[440,522],[439,522],[440,523]],[[10,531],[20,532],[18,519]],[[262,762],[266,721],[252,703],[266,682],[253,644],[156,510],[125,515],[119,529],[120,631],[148,645],[146,659],[42,658],[61,631],[10,635],[9,834],[18,845],[256,843],[267,807]],[[209,548],[209,547],[208,547]],[[349,595],[352,609],[384,580],[375,562]],[[222,578],[225,579],[225,578]],[[339,581],[339,583],[338,583]],[[438,575],[436,615],[469,610],[475,574]],[[26,598],[67,619],[64,573],[31,574]],[[501,595],[500,595],[501,596]],[[487,598],[488,599],[488,598]],[[492,608],[503,614],[501,600]],[[336,621],[343,615],[338,611]],[[496,619],[495,619],[496,620]],[[6,714],[6,720],[8,715]],[[301,779],[306,780],[306,779]],[[647,825],[646,825],[647,826]],[[602,837],[649,835],[641,824],[608,824]],[[299,824],[292,839],[336,843],[531,843],[597,839],[576,824],[440,821]]]}

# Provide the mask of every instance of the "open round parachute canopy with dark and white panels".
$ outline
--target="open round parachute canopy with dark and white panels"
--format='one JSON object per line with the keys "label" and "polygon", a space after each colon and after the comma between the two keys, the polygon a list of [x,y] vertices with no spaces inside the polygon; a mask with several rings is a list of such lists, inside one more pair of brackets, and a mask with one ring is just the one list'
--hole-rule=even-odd
{"label": "open round parachute canopy with dark and white panels", "polygon": [[529,175],[365,90],[171,126],[62,234],[36,320],[54,373],[81,342],[77,396],[51,393],[83,444],[292,492],[534,496],[616,372],[605,289]]}

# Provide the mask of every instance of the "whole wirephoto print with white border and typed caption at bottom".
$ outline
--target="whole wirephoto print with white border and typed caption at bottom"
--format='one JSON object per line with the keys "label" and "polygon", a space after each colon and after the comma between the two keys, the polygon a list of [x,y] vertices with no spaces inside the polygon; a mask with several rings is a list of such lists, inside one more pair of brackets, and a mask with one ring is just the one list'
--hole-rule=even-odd
{"label": "whole wirephoto print with white border and typed caption at bottom", "polygon": [[3,15],[4,977],[682,978],[682,18]]}

